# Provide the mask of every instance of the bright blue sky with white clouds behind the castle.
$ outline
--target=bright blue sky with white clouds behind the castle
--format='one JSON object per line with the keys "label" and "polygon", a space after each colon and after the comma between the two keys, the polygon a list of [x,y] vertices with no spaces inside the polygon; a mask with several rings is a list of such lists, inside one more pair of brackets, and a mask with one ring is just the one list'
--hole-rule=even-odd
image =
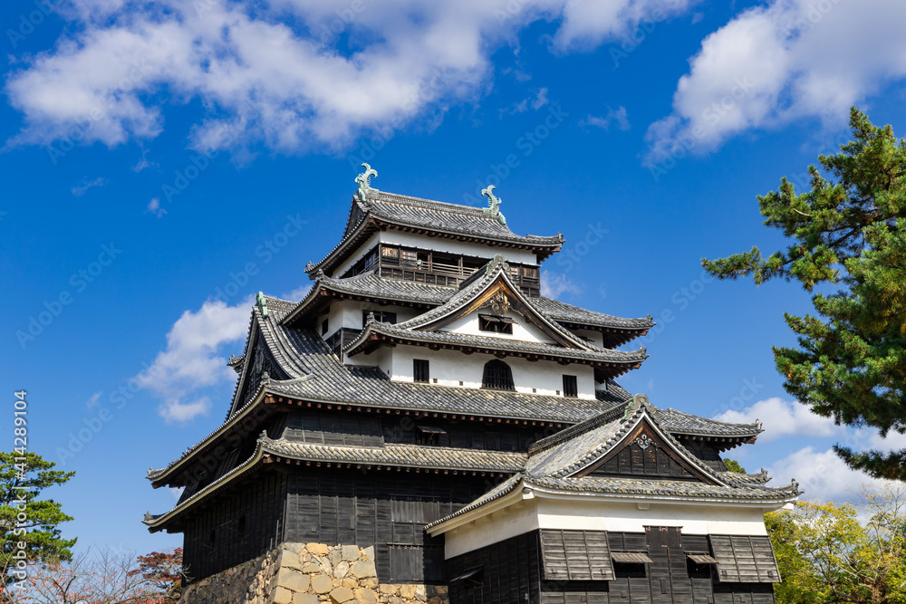
{"label": "bright blue sky with white clouds behind the castle", "polygon": [[[781,387],[788,283],[718,283],[702,256],[783,244],[756,196],[845,141],[852,104],[906,131],[906,5],[372,0],[8,2],[2,384],[80,543],[174,547],[144,478],[217,427],[248,298],[299,297],[342,235],[361,161],[380,189],[566,237],[565,302],[651,313],[622,379],[661,407],[752,421],[730,453],[807,497],[863,477]],[[31,331],[30,331],[31,330]],[[637,347],[633,342],[631,347]],[[12,433],[12,405],[10,432]],[[12,437],[12,436],[10,436]],[[901,436],[893,436],[900,442]],[[776,484],[775,483],[775,484]]]}

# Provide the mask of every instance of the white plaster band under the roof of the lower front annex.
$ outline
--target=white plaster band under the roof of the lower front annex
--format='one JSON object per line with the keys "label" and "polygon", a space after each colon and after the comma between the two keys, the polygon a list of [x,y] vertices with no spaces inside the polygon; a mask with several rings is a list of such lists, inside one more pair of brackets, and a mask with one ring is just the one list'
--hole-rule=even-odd
{"label": "white plaster band under the roof of the lower front annex", "polygon": [[640,510],[636,503],[535,497],[445,532],[444,547],[449,559],[535,529],[644,532],[647,525],[679,526],[696,535],[766,535],[764,513],[769,511],[653,502]]}

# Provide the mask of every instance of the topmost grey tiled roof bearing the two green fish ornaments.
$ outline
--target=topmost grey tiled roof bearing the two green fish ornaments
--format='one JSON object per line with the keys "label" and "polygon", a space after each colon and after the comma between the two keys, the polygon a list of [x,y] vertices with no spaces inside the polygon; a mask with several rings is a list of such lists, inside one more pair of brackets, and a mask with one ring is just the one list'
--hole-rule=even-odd
{"label": "topmost grey tiled roof bearing the two green fish ornaments", "polygon": [[[564,243],[563,235],[516,235],[506,225],[501,225],[495,216],[482,212],[480,207],[458,206],[419,197],[407,197],[381,191],[376,197],[361,201],[352,198],[350,216],[357,216],[356,225],[347,225],[346,233],[329,254],[315,264],[309,264],[306,272],[315,273],[319,268],[330,267],[339,258],[351,254],[378,226],[400,227],[403,229],[424,229],[436,236],[471,238],[534,249],[539,253],[552,254]],[[329,272],[328,268],[324,268]]]}

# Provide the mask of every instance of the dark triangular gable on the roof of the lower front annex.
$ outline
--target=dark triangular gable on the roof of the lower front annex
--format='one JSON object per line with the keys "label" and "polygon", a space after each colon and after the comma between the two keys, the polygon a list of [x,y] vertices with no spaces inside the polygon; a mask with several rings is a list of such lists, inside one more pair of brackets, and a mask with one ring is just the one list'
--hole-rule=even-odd
{"label": "dark triangular gable on the roof of the lower front annex", "polygon": [[647,419],[641,420],[607,455],[575,475],[632,476],[712,483],[708,476],[679,455]]}

